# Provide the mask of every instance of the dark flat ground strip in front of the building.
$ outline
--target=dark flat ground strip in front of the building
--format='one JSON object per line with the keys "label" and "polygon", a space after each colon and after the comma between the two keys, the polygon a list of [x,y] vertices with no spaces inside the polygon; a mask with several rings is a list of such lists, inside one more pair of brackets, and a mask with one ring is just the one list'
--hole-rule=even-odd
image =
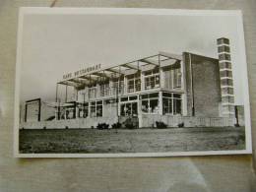
{"label": "dark flat ground strip in front of the building", "polygon": [[21,153],[147,153],[244,149],[244,127],[20,131]]}

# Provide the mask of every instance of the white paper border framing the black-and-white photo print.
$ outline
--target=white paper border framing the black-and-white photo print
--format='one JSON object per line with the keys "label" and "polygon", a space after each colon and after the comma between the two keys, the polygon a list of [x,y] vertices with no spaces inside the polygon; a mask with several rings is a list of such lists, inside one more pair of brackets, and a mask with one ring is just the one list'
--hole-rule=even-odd
{"label": "white paper border framing the black-and-white photo print", "polygon": [[[22,63],[23,22],[25,15],[172,15],[172,16],[235,16],[237,17],[237,32],[241,45],[242,63],[245,64],[244,88],[244,114],[245,114],[245,146],[246,150],[235,151],[204,151],[204,152],[170,152],[170,153],[123,153],[123,154],[20,154],[19,153],[19,102],[20,102],[20,70]],[[19,13],[19,26],[17,34],[17,61],[15,85],[15,123],[14,123],[14,157],[15,158],[134,158],[134,157],[183,157],[208,155],[244,155],[252,154],[250,102],[248,90],[247,63],[245,55],[245,42],[243,32],[242,13],[239,10],[171,10],[171,9],[129,9],[129,8],[35,8],[22,7]]]}

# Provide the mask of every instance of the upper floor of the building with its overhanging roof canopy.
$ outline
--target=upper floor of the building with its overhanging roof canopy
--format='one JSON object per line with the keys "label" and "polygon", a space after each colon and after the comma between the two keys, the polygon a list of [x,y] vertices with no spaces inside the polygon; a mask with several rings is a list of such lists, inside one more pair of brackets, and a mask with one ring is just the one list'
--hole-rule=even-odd
{"label": "upper floor of the building with its overhanging roof canopy", "polygon": [[[157,55],[71,78],[59,82],[58,85],[73,87],[73,99],[80,102],[160,90],[182,93],[182,56],[160,52]],[[65,100],[70,101],[67,97]]]}

